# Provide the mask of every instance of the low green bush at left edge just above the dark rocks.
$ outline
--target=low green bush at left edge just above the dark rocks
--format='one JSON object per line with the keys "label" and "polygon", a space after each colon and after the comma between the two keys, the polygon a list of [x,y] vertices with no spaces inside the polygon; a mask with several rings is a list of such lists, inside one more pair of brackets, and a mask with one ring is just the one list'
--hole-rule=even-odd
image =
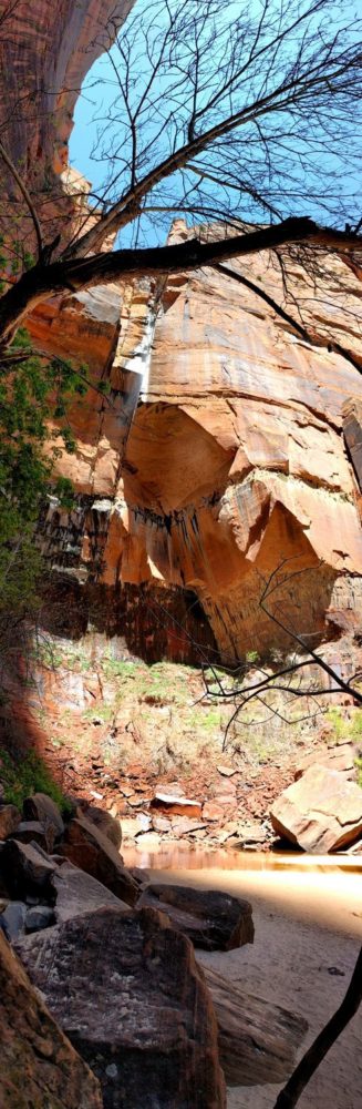
{"label": "low green bush at left edge just above the dark rocks", "polygon": [[64,797],[35,751],[14,757],[0,747],[0,779],[4,786],[4,800],[20,810],[25,797],[33,793],[46,793],[64,814],[72,811],[71,802]]}

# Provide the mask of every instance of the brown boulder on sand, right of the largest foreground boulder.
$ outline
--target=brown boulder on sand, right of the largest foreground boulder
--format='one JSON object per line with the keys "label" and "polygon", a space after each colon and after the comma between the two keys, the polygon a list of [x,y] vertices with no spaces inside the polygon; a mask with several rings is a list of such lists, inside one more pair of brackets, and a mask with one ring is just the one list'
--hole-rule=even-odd
{"label": "brown boulder on sand, right of the largest foreground boulder", "polygon": [[259,1086],[289,1078],[308,1030],[307,1020],[247,994],[210,966],[203,969],[215,1006],[227,1085]]}

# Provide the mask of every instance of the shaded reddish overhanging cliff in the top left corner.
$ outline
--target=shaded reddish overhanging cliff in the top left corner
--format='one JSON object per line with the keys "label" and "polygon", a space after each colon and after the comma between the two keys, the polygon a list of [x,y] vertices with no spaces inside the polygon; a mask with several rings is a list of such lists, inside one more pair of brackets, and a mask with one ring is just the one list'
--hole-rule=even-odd
{"label": "shaded reddish overhanging cliff in the top left corner", "polygon": [[[84,220],[84,210],[71,195],[79,191],[76,173],[69,174],[68,169],[74,104],[87,70],[110,43],[107,21],[112,16],[114,27],[121,26],[132,4],[133,0],[62,0],[54,6],[51,0],[37,0],[35,8],[29,8],[27,0],[17,0],[2,6],[2,133],[35,199],[38,215],[44,218],[48,242],[51,215],[56,220],[54,228],[63,235],[70,217],[73,227],[76,214]],[[13,189],[9,179],[8,195],[12,196]]]}

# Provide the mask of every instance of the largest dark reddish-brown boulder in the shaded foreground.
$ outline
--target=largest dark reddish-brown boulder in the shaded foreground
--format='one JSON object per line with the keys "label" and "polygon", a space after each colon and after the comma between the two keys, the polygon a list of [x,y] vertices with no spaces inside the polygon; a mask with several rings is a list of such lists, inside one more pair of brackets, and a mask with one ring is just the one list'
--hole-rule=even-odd
{"label": "largest dark reddish-brown boulder in the shaded foreground", "polygon": [[17,949],[105,1109],[225,1109],[213,1003],[189,940],[161,913],[99,909]]}

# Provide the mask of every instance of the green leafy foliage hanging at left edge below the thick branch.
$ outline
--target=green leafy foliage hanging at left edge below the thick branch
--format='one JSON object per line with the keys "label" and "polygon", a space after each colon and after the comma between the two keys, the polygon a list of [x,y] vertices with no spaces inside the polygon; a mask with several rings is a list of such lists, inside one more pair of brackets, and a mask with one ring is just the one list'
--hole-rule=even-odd
{"label": "green leafy foliage hanging at left edge below the thick branch", "polygon": [[[71,482],[54,478],[54,438],[60,435],[74,452],[66,409],[87,387],[84,367],[34,354],[23,328],[0,358],[0,621],[4,613],[18,620],[37,608],[42,562],[33,532],[46,489],[52,486],[62,507],[73,505]],[[54,419],[59,430],[52,436]]]}

